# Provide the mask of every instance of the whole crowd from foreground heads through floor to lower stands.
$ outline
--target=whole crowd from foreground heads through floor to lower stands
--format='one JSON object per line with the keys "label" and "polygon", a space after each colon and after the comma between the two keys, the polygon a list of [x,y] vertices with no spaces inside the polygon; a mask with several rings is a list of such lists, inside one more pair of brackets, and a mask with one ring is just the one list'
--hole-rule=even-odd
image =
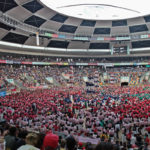
{"label": "whole crowd from foreground heads through floor to lower stands", "polygon": [[[14,59],[11,56],[1,59],[39,61],[37,58]],[[147,72],[149,68],[135,66],[1,64],[0,91],[20,88],[20,92],[0,97],[0,121],[4,120],[0,125],[0,148],[4,144],[1,141],[5,141],[6,150],[148,150],[148,80],[145,80],[146,85],[134,88],[116,84],[120,83],[121,76],[139,83]],[[113,79],[115,84],[106,85],[104,73],[109,76],[108,83]],[[67,75],[71,79],[66,78]],[[52,77],[59,86],[52,85],[47,77]],[[104,84],[88,93],[84,77],[94,82],[96,78]],[[14,84],[7,79],[13,79]],[[30,89],[41,85],[47,85],[48,89]]]}

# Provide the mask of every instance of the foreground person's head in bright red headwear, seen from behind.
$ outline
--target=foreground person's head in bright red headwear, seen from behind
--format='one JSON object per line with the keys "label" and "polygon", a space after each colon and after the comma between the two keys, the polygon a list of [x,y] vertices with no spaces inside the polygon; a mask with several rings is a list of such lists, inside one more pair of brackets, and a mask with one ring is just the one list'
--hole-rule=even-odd
{"label": "foreground person's head in bright red headwear, seen from behind", "polygon": [[44,137],[42,150],[56,150],[58,147],[59,137],[51,132]]}

